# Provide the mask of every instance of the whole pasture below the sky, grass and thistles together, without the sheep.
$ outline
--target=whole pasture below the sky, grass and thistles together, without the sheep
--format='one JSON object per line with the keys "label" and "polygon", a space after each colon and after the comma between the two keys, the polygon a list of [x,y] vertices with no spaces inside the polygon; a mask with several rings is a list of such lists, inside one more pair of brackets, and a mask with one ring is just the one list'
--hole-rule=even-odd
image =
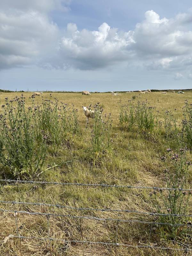
{"label": "whole pasture below the sky, grass and thistles together, without the sheep", "polygon": [[[1,179],[191,188],[192,93],[132,92],[117,96],[111,93],[52,93],[50,98],[50,93],[44,92],[43,97],[29,99],[32,93],[25,92],[23,98],[10,102],[16,95],[21,97],[19,93],[0,94]],[[93,110],[95,104],[102,112],[104,123],[96,116],[86,125],[82,106],[92,105]],[[26,150],[25,155],[22,148]],[[191,217],[161,215],[192,214],[190,191],[176,193],[177,190],[19,182],[0,184],[0,208],[10,210],[1,211],[1,241],[10,234],[25,237],[11,237],[2,243],[0,255],[191,255],[191,252],[180,250],[142,247],[192,249]],[[112,209],[132,212],[110,211]],[[136,212],[157,212],[159,215]],[[154,222],[154,225],[142,221]],[[167,228],[155,222],[173,226]],[[53,240],[46,239],[48,237]],[[130,246],[113,245],[117,243]],[[136,245],[141,247],[135,248]]]}

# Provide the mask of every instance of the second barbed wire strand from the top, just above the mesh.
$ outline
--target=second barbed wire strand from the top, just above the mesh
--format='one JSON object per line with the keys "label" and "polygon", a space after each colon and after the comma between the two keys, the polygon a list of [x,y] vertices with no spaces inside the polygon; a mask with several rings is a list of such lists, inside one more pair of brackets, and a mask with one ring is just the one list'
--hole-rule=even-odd
{"label": "second barbed wire strand from the top, just above the mesh", "polygon": [[188,215],[188,214],[177,214],[177,213],[140,212],[140,211],[128,210],[128,209],[120,210],[120,209],[97,209],[97,208],[83,208],[83,207],[78,208],[78,207],[72,207],[72,206],[60,205],[60,204],[16,202],[16,201],[3,201],[3,200],[0,200],[0,203],[3,203],[3,204],[44,205],[44,206],[65,208],[65,209],[77,210],[77,211],[128,212],[128,213],[138,213],[138,214],[151,215],[151,216],[192,217],[192,214]]}

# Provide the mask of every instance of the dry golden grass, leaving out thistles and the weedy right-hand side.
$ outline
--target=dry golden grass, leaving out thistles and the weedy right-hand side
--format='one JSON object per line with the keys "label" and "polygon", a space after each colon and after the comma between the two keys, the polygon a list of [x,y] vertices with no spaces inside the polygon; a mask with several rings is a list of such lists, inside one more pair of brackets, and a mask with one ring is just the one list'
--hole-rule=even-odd
{"label": "dry golden grass, leaving out thistles and the weedy right-hand side", "polygon": [[[32,93],[23,93],[26,97],[26,105],[30,105],[29,96]],[[19,93],[2,93],[0,100],[3,104],[4,98],[12,99]],[[90,96],[81,93],[52,93],[59,101],[74,104],[78,109],[79,122],[82,134],[76,138],[73,148],[60,148],[57,152],[49,150],[43,170],[57,165],[43,172],[40,179],[57,182],[78,182],[78,183],[106,183],[117,185],[135,186],[164,186],[163,169],[164,164],[160,156],[166,148],[171,147],[171,141],[159,139],[158,141],[146,140],[137,132],[127,132],[119,129],[119,106],[130,100],[133,95],[139,93],[122,93],[121,96],[113,96],[110,93],[92,93]],[[43,97],[49,97],[44,93]],[[192,93],[185,94],[162,94],[151,92],[140,95],[141,100],[148,100],[152,106],[161,112],[168,109],[174,112],[178,122],[182,119],[182,107],[186,99],[192,102]],[[41,97],[36,96],[35,102],[40,102]],[[99,166],[93,166],[87,159],[87,152],[91,148],[90,134],[92,120],[86,128],[86,118],[82,105],[92,106],[100,102],[104,113],[111,113],[113,119],[113,154],[104,158]],[[176,109],[176,110],[175,110]],[[161,115],[161,113],[160,113]],[[188,153],[189,159],[191,154]],[[68,164],[65,162],[70,161]],[[2,173],[2,178],[4,174]],[[192,179],[192,176],[189,180]],[[11,184],[0,187],[0,200],[39,202],[47,204],[62,204],[72,207],[87,208],[111,208],[111,209],[132,209],[137,211],[152,211],[153,205],[150,201],[148,190],[123,189],[123,188],[93,188],[59,185],[26,185]],[[86,215],[99,218],[115,219],[140,219],[152,220],[151,216],[135,215],[130,213],[98,212],[98,211],[69,211],[56,207],[40,207],[34,205],[8,205],[2,204],[1,208],[16,211],[29,212],[52,212],[58,214]],[[17,215],[19,234],[29,237],[48,237],[48,226],[46,216],[28,215],[19,213]],[[50,217],[50,236],[54,239],[82,240],[80,220],[64,217]],[[0,238],[3,241],[6,236],[17,235],[15,217],[12,213],[1,213],[0,215]],[[82,229],[84,240],[102,241],[107,243],[115,242],[116,222],[83,220]],[[150,226],[138,223],[120,223],[118,229],[118,243],[136,245],[138,243],[148,245]],[[179,244],[165,241],[154,233],[151,236],[151,245],[170,246],[179,248]],[[114,246],[94,245],[78,243],[64,243],[61,241],[48,241],[38,239],[17,239],[10,238],[6,244],[0,247],[0,255],[84,255],[85,256],[107,256],[115,255]],[[136,249],[118,247],[116,255],[185,255],[184,252],[172,252],[162,250]],[[190,254],[188,254],[190,255]]]}

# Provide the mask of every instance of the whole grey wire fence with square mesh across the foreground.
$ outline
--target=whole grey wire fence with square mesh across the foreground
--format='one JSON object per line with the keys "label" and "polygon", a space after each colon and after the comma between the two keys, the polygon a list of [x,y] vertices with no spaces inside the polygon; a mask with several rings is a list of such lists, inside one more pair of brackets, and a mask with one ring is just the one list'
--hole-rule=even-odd
{"label": "whole grey wire fence with square mesh across the foreground", "polygon": [[[39,184],[39,185],[62,185],[62,186],[87,186],[87,187],[103,187],[103,188],[129,188],[129,189],[153,189],[154,191],[163,191],[163,190],[178,190],[182,192],[188,192],[189,195],[191,195],[191,189],[183,189],[183,188],[159,188],[159,187],[136,187],[136,186],[124,186],[124,185],[107,185],[107,184],[83,184],[83,183],[59,183],[59,182],[47,182],[47,181],[32,181],[32,180],[0,180],[1,183],[4,184]],[[68,209],[69,211],[76,210],[78,212],[82,212],[82,216],[76,215],[76,214],[57,214],[54,212],[32,212],[32,211],[18,211],[16,209],[3,209],[0,208],[0,212],[6,212],[6,213],[14,213],[15,216],[15,227],[16,227],[16,232],[17,234],[15,235],[10,235],[11,238],[19,238],[21,239],[37,239],[37,240],[42,240],[42,241],[60,241],[64,244],[70,244],[70,243],[76,243],[76,244],[83,244],[83,255],[84,255],[84,245],[85,244],[98,244],[98,245],[106,245],[106,246],[115,246],[115,255],[118,255],[118,247],[123,246],[125,248],[148,248],[148,249],[159,249],[159,250],[172,250],[172,251],[183,251],[183,252],[192,252],[192,246],[189,244],[189,240],[191,239],[191,228],[192,224],[189,221],[188,223],[167,223],[167,222],[158,222],[158,221],[145,221],[145,220],[130,220],[130,219],[119,219],[119,218],[98,218],[95,216],[84,216],[84,211],[101,211],[101,212],[124,212],[124,213],[134,213],[138,215],[149,215],[149,216],[167,216],[167,217],[187,217],[191,218],[192,214],[171,214],[171,213],[159,213],[159,212],[142,212],[142,211],[136,211],[132,209],[98,209],[98,208],[82,208],[82,207],[72,207],[69,205],[61,205],[61,204],[47,204],[47,203],[36,203],[36,202],[22,202],[22,201],[5,201],[5,200],[0,200],[0,204],[3,205],[36,205],[36,206],[47,206],[47,207],[56,207],[59,209]],[[15,208],[15,207],[14,207]],[[37,237],[37,236],[22,236],[19,231],[19,226],[18,226],[18,216],[17,214],[27,214],[27,215],[39,215],[39,216],[46,216],[47,218],[47,227],[48,227],[48,237]],[[76,219],[80,220],[80,235],[81,235],[81,240],[64,240],[64,239],[59,239],[59,238],[52,238],[50,237],[50,217],[63,217],[63,218],[71,218],[71,219]],[[102,242],[102,241],[87,241],[84,239],[84,232],[82,228],[82,220],[95,220],[95,221],[113,221],[116,223],[116,231],[115,231],[115,239],[114,241],[110,242]],[[124,244],[124,243],[118,243],[118,231],[119,231],[119,224],[120,223],[141,223],[141,224],[146,224],[150,226],[150,232],[149,232],[149,237],[148,237],[148,243],[146,244],[139,244],[133,245],[133,244]],[[165,226],[170,226],[170,227],[186,227],[188,228],[188,241],[187,243],[182,243],[182,248],[173,248],[173,247],[164,247],[164,246],[157,246],[151,245],[151,234],[153,227],[156,225],[165,225]],[[51,253],[51,248],[50,248],[50,253]]]}

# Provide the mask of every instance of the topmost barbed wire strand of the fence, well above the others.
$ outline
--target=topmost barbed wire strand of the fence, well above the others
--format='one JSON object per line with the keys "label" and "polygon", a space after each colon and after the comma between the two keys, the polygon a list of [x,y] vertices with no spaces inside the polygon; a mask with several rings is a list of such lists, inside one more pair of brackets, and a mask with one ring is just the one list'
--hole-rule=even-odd
{"label": "topmost barbed wire strand of the fence, well above the others", "polygon": [[160,187],[141,187],[141,186],[129,186],[129,185],[108,185],[108,184],[86,184],[86,183],[70,183],[70,182],[53,182],[53,181],[34,181],[34,180],[0,180],[0,182],[8,183],[29,183],[29,184],[50,184],[50,185],[75,185],[75,186],[87,186],[87,187],[106,187],[106,188],[135,188],[135,189],[154,189],[154,190],[179,190],[189,191],[192,193],[192,189],[188,188],[160,188]]}

